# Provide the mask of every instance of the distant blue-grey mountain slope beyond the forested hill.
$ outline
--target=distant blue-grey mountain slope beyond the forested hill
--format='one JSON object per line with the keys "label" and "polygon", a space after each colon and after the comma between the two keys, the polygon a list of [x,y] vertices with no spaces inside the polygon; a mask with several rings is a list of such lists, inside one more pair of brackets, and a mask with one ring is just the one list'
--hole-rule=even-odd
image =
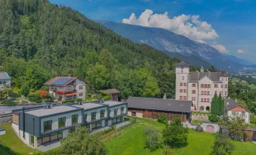
{"label": "distant blue-grey mountain slope beyond the forested hill", "polygon": [[[112,29],[115,33],[132,40],[135,43],[146,43],[157,50],[167,53],[170,57],[180,59],[190,58],[190,64],[213,64],[226,70],[240,70],[244,66],[227,60],[223,53],[204,43],[198,43],[189,38],[172,33],[166,29],[135,26],[119,22],[95,20],[102,26]],[[195,58],[197,57],[197,58]]]}

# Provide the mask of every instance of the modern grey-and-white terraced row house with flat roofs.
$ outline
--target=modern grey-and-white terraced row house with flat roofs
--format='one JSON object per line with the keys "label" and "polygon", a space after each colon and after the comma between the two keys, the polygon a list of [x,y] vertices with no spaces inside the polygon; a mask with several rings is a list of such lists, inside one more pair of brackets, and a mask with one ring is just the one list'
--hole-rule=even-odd
{"label": "modern grey-and-white terraced row house with flat roofs", "polygon": [[22,108],[12,112],[12,129],[24,143],[37,148],[67,137],[78,125],[92,132],[123,122],[126,113],[127,104],[115,101]]}

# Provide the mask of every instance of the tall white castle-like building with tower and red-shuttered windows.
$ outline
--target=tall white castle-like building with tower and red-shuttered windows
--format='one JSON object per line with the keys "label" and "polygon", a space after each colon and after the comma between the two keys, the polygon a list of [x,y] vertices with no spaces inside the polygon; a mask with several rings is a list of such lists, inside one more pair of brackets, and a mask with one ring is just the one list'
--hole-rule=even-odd
{"label": "tall white castle-like building with tower and red-shuttered windows", "polygon": [[175,99],[192,101],[194,111],[209,111],[215,94],[227,97],[226,72],[190,72],[189,67],[184,61],[176,65]]}

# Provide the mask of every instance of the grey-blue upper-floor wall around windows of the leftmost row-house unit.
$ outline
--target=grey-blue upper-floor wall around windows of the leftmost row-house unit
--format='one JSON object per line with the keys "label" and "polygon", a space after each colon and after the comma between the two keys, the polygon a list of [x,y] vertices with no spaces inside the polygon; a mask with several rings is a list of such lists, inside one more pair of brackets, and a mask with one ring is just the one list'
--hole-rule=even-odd
{"label": "grey-blue upper-floor wall around windows of the leftmost row-house unit", "polygon": [[41,133],[44,133],[43,132],[43,122],[52,120],[53,121],[52,130],[54,130],[54,129],[58,129],[58,119],[62,118],[62,117],[66,117],[66,126],[71,126],[72,125],[72,115],[76,115],[76,114],[78,114],[78,123],[81,123],[81,111],[69,112],[69,113],[65,113],[62,115],[54,115],[54,116],[49,116],[47,118],[41,119]]}

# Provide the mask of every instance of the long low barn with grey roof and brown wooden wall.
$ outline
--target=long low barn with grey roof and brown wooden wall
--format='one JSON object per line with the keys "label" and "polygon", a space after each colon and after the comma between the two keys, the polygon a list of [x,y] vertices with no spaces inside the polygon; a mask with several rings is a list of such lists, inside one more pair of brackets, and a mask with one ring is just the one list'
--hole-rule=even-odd
{"label": "long low barn with grey roof and brown wooden wall", "polygon": [[190,118],[192,101],[162,98],[129,97],[128,115],[140,118],[157,119],[164,114],[168,120],[180,118],[186,122]]}

